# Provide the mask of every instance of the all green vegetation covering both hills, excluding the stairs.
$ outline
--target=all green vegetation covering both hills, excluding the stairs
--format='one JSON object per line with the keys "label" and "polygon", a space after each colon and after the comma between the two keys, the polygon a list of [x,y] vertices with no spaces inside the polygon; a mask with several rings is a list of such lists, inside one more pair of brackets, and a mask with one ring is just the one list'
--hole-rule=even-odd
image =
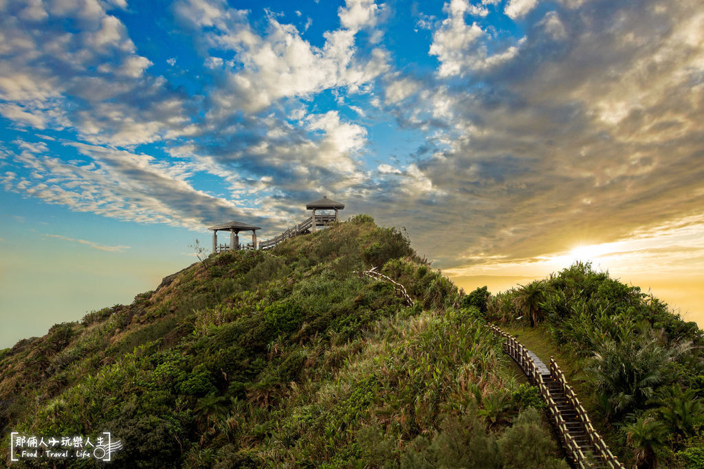
{"label": "all green vegetation covering both hills, excluding the stairs", "polygon": [[567,467],[489,322],[558,359],[627,466],[704,468],[696,324],[589,264],[465,295],[367,215],[210,255],[1,351],[1,457],[10,431],[109,430],[115,467]]}

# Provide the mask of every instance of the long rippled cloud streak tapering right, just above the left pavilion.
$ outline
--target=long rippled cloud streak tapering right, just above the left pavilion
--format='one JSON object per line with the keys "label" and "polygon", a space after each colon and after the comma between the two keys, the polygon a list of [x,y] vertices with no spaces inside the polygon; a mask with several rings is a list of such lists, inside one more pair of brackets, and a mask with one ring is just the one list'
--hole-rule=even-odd
{"label": "long rippled cloud streak tapering right, just above the left pavilion", "polygon": [[232,202],[197,191],[188,182],[188,165],[158,162],[144,154],[70,143],[89,162],[65,162],[51,155],[23,151],[15,164],[33,176],[3,179],[6,190],[91,212],[139,223],[166,223],[203,229],[210,221],[242,217]]}

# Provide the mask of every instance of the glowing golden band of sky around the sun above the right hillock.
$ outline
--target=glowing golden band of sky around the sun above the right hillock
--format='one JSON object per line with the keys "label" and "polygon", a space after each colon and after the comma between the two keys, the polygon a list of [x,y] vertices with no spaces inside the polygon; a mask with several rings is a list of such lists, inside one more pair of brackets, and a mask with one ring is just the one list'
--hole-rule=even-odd
{"label": "glowing golden band of sky around the sun above the right hillock", "polygon": [[567,252],[543,255],[523,262],[489,262],[444,272],[467,292],[487,285],[493,293],[544,278],[575,261],[591,262],[612,278],[641,287],[667,302],[686,321],[704,326],[704,224],[699,217],[636,231],[612,243],[574,243]]}

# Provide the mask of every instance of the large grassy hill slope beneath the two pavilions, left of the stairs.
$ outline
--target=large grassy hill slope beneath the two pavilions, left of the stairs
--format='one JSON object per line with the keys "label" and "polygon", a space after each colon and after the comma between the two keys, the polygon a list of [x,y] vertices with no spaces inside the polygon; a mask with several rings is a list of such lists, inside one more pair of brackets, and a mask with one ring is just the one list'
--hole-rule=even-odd
{"label": "large grassy hill slope beneath the two pavilions, left of the stairs", "polygon": [[[355,273],[371,266],[413,306]],[[536,388],[461,302],[367,216],[210,256],[0,352],[3,456],[10,431],[109,430],[116,467],[566,467]]]}

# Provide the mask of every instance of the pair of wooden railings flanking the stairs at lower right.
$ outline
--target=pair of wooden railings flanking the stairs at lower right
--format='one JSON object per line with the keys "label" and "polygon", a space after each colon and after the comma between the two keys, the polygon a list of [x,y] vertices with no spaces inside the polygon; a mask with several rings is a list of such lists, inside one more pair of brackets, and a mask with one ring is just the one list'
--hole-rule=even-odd
{"label": "pair of wooden railings flanking the stairs at lower right", "polygon": [[[500,328],[491,325],[491,330],[493,330],[496,335],[499,335],[505,339],[505,342],[503,343],[503,349],[505,352],[509,354],[517,364],[519,364],[532,383],[539,388],[543,401],[548,404],[548,412],[550,413],[551,418],[553,418],[553,422],[555,423],[555,427],[558,429],[558,433],[562,439],[562,444],[565,446],[568,456],[572,458],[572,461],[575,465],[577,465],[577,467],[592,468],[593,463],[589,461],[582,451],[582,448],[580,448],[579,444],[577,444],[574,440],[574,437],[570,435],[570,430],[567,428],[565,418],[562,417],[562,412],[551,396],[550,390],[545,385],[543,375],[539,372],[535,362],[529,356],[528,349],[526,349],[522,343],[518,342],[516,338],[503,332]],[[564,373],[562,373],[560,367],[552,357],[550,359],[550,372],[551,374],[548,375],[548,377],[554,378],[558,381],[558,383],[560,383],[560,386],[567,397],[567,401],[570,402],[570,404],[577,411],[577,415],[579,415],[579,419],[584,425],[586,434],[589,435],[589,440],[593,448],[596,449],[596,458],[600,458],[601,461],[607,463],[607,465],[612,469],[625,469],[624,466],[618,462],[616,456],[611,453],[608,445],[605,444],[601,436],[596,432],[596,430],[594,430],[593,425],[591,425],[591,421],[589,420],[589,416],[587,416],[584,407],[579,402],[579,399],[577,399],[577,394],[574,394],[572,387],[567,384]]]}

